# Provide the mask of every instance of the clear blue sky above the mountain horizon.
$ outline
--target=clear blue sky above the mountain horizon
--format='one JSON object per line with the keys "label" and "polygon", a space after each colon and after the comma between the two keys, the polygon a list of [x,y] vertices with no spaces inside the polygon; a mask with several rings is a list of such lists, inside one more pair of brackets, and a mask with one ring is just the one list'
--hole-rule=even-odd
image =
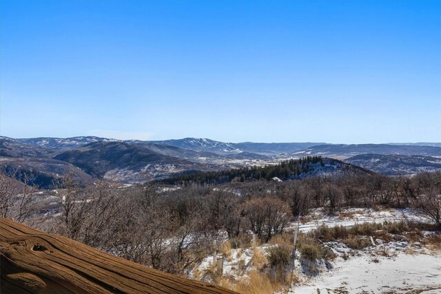
{"label": "clear blue sky above the mountain horizon", "polygon": [[441,141],[441,1],[1,1],[0,134]]}

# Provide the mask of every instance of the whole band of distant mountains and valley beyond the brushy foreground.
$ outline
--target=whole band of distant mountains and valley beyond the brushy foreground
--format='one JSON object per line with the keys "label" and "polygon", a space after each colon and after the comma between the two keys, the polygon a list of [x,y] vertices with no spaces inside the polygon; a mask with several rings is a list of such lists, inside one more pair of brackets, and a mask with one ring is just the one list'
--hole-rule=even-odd
{"label": "whole band of distant mountains and valley beyond the brushy foreground", "polygon": [[[440,169],[441,143],[341,145],[325,143],[223,143],[205,138],[142,141],[94,136],[0,137],[0,165],[50,187],[70,174],[83,182],[105,178],[144,182],[194,172],[264,166],[289,158],[345,159],[382,174]],[[359,157],[357,157],[359,156]]]}

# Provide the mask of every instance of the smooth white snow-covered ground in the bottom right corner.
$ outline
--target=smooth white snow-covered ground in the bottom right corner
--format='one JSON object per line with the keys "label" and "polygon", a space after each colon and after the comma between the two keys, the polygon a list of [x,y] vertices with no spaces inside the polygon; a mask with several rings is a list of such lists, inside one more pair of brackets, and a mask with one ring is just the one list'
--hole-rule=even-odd
{"label": "smooth white snow-covered ground in the bottom right corner", "polygon": [[441,293],[440,254],[360,255],[338,258],[333,265],[334,269],[292,287],[289,293]]}

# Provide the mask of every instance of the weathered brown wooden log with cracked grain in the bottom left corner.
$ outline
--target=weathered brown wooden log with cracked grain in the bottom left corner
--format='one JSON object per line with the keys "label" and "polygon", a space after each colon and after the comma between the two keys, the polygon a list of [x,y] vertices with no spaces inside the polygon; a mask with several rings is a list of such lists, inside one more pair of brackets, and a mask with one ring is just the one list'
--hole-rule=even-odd
{"label": "weathered brown wooden log with cracked grain in the bottom left corner", "polygon": [[0,218],[6,293],[234,293],[117,258],[74,240]]}

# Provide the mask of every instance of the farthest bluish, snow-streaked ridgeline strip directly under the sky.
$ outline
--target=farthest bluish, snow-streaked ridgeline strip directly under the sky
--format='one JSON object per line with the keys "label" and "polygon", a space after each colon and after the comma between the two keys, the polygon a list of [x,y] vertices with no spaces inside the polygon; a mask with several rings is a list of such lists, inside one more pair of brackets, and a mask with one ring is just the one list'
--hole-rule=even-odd
{"label": "farthest bluish, snow-streaked ridgeline strip directly under the sky", "polygon": [[124,142],[135,144],[154,144],[178,147],[210,154],[261,154],[274,156],[287,154],[289,156],[324,155],[324,156],[354,156],[358,154],[400,154],[441,156],[441,143],[388,143],[388,144],[327,144],[327,143],[224,143],[207,138],[183,138],[177,140],[116,140],[95,136],[78,136],[72,138],[8,138],[14,143],[25,143],[36,147],[50,149],[76,148],[96,142]]}

